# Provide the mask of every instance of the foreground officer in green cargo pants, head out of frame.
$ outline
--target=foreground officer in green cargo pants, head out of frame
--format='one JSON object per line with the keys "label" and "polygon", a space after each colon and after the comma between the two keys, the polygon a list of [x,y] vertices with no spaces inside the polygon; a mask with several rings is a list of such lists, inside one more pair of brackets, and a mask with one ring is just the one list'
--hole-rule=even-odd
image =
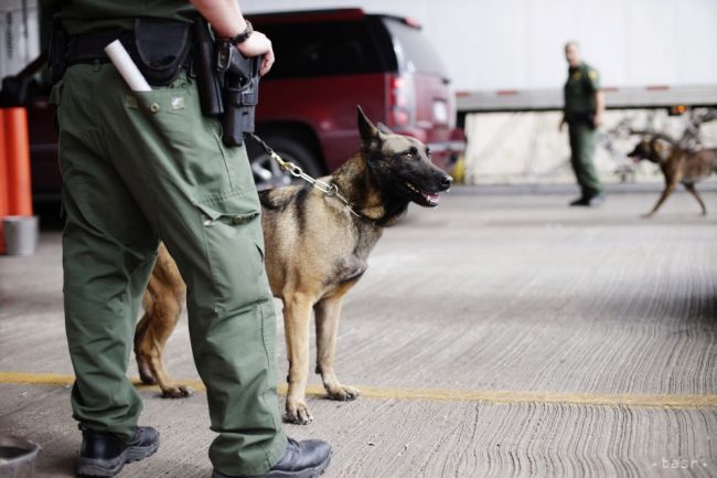
{"label": "foreground officer in green cargo pants, head out of frame", "polygon": [[[188,285],[192,352],[218,434],[210,447],[213,477],[318,476],[329,444],[297,443],[282,431],[275,309],[246,149],[225,147],[218,119],[202,115],[182,49],[185,25],[200,14],[245,56],[261,56],[261,74],[274,63],[271,42],[252,32],[236,0],[44,0],[43,7],[68,35],[53,40],[53,50],[56,42],[65,49],[53,64],[61,60],[67,68],[54,68],[64,75],[51,99],[66,211],[72,408],[83,434],[78,475],[115,476],[159,447],[159,433],[138,426],[142,404],[126,372],[161,240]],[[130,92],[104,53],[116,38],[138,64],[160,57],[151,70],[158,77],[176,61],[174,74],[148,77],[151,92]]]}

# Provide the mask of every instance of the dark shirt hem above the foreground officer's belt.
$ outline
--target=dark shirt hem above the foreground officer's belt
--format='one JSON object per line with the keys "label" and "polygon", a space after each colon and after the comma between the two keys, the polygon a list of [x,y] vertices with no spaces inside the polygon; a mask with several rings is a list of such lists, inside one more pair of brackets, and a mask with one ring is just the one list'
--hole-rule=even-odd
{"label": "dark shirt hem above the foreground officer's belt", "polygon": [[71,35],[103,30],[131,30],[138,17],[192,22],[199,14],[189,0],[41,0],[44,13],[56,13]]}

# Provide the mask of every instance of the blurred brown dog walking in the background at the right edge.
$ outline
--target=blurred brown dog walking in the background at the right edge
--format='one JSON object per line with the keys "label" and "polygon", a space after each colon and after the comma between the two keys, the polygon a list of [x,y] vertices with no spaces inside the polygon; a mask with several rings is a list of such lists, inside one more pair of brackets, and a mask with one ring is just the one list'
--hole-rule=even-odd
{"label": "blurred brown dog walking in the background at the right edge", "polygon": [[646,159],[659,164],[665,177],[665,189],[662,191],[652,211],[643,214],[643,217],[651,217],[656,213],[679,182],[695,196],[702,208],[702,214],[707,215],[707,208],[695,189],[695,182],[699,179],[707,178],[713,172],[717,172],[717,148],[692,151],[681,148],[664,138],[654,136],[644,137],[628,153],[628,157],[634,161]]}

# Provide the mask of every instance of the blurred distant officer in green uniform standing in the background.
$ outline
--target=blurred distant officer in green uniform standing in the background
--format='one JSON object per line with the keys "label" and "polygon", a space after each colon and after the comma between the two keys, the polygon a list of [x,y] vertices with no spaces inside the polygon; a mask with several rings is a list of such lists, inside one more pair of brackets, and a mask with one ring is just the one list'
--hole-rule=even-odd
{"label": "blurred distant officer in green uniform standing in the background", "polygon": [[580,185],[580,198],[570,205],[596,206],[602,203],[602,185],[595,170],[596,129],[602,123],[604,98],[600,91],[600,74],[580,60],[575,42],[565,45],[568,81],[565,84],[565,109],[560,130],[568,124],[570,164]]}

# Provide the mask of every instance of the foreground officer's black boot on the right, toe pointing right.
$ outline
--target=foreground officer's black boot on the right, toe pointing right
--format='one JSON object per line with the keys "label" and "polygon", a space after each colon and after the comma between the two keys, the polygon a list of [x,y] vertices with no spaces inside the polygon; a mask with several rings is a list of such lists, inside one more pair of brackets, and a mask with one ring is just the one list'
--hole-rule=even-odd
{"label": "foreground officer's black boot on the right, toe pointing right", "polygon": [[[260,477],[248,478],[315,478],[331,461],[331,445],[318,439],[297,442],[289,438],[287,450],[274,467]],[[212,478],[229,478],[214,470]]]}

